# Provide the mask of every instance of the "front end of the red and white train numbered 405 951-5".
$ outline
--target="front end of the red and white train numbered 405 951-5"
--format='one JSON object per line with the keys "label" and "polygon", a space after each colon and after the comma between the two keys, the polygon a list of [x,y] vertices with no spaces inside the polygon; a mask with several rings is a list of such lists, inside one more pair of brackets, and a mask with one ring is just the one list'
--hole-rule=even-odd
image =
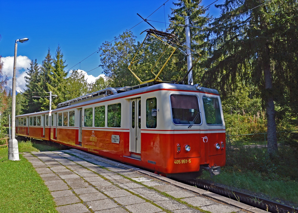
{"label": "front end of the red and white train numbered 405 951-5", "polygon": [[218,91],[199,85],[175,85],[161,96],[164,136],[156,141],[163,141],[160,149],[168,154],[161,159],[165,163],[160,168],[165,168],[160,174],[192,179],[207,170],[211,176],[218,175],[226,163],[225,124]]}

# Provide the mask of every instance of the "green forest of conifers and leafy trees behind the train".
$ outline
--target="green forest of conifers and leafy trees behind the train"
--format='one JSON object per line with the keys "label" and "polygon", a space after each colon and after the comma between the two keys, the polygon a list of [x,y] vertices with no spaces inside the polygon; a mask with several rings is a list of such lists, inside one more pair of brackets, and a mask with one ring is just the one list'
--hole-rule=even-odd
{"label": "green forest of conifers and leafy trees behind the train", "polygon": [[[175,34],[185,44],[184,17],[189,16],[193,61],[193,82],[217,89],[221,95],[227,135],[267,133],[265,141],[270,157],[278,154],[281,142],[298,149],[298,2],[297,0],[226,0],[216,5],[219,17],[209,15],[201,0],[179,0],[173,3],[166,32]],[[42,61],[30,63],[25,77],[24,93],[16,96],[16,115],[49,110],[49,91],[58,103],[106,87],[134,86],[139,82],[128,65],[141,41],[131,31],[106,41],[99,47],[100,66],[105,78],[87,83],[80,70],[67,70],[60,45],[54,56],[51,50]],[[142,58],[134,72],[143,80],[153,78],[150,67],[162,66],[158,60],[164,51],[162,42],[147,39],[138,52]],[[166,59],[162,56],[161,59]],[[164,58],[163,58],[164,57]],[[0,71],[3,63],[0,56]],[[160,78],[179,82],[187,72],[186,57],[176,51]],[[11,112],[11,94],[4,91],[7,77],[0,72],[0,138],[3,138]],[[33,98],[39,96],[41,98]],[[287,134],[277,132],[292,131]],[[246,136],[242,138],[247,139]],[[264,140],[253,135],[249,140]]]}

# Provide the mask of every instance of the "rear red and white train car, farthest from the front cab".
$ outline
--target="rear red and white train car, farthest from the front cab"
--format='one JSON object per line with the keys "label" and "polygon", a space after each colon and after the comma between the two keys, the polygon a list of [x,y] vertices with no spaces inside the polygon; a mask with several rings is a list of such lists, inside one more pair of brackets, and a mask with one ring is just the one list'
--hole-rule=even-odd
{"label": "rear red and white train car, farthest from the front cab", "polygon": [[51,111],[18,115],[15,119],[15,135],[50,140]]}

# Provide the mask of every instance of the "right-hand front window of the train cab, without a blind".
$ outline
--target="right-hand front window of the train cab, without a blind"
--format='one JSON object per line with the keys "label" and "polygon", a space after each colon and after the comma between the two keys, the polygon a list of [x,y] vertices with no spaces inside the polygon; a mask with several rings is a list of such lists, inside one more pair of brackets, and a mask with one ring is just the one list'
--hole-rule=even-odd
{"label": "right-hand front window of the train cab, without a blind", "polygon": [[221,110],[218,98],[203,96],[204,111],[207,124],[221,125]]}

